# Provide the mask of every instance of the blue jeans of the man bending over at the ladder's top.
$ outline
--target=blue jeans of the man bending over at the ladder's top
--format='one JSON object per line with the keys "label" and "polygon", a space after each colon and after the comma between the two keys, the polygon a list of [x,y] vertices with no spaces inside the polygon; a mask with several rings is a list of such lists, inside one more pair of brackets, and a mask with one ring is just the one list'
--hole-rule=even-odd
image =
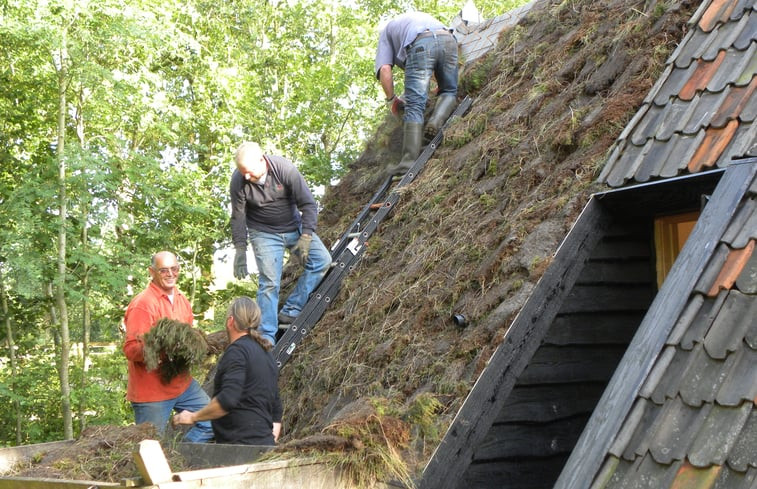
{"label": "blue jeans of the man bending over at the ladder's top", "polygon": [[457,95],[457,40],[454,36],[428,36],[407,47],[405,122],[423,123],[431,75],[436,75],[438,95]]}

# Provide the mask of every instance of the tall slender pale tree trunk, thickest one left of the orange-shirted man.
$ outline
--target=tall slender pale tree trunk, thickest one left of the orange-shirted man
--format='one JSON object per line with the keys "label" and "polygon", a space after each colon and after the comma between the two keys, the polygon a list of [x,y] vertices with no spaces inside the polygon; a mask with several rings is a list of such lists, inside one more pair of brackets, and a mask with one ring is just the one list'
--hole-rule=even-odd
{"label": "tall slender pale tree trunk, thickest one left of the orange-shirted man", "polygon": [[66,160],[64,144],[66,135],[66,83],[68,53],[66,51],[67,28],[61,32],[60,69],[58,70],[58,145],[56,156],[58,160],[58,188],[59,188],[59,222],[58,229],[58,273],[55,280],[55,302],[60,315],[60,394],[61,414],[63,415],[63,437],[70,440],[74,437],[73,416],[71,414],[71,386],[69,384],[69,356],[71,340],[68,331],[68,308],[66,305]]}

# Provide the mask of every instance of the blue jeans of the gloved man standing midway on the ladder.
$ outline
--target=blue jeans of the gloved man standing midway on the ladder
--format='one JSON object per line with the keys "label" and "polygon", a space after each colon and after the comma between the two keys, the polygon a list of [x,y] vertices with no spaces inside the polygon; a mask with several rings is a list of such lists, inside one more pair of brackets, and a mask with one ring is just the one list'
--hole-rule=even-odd
{"label": "blue jeans of the gloved man standing midway on the ladder", "polygon": [[[288,233],[265,233],[250,230],[250,242],[258,265],[258,295],[260,306],[260,334],[276,344],[279,330],[278,305],[281,271],[284,268],[284,250],[291,249],[300,239],[300,231]],[[310,293],[318,287],[331,266],[331,253],[314,233],[305,271],[297,279],[292,293],[281,307],[281,312],[296,317],[305,307]]]}

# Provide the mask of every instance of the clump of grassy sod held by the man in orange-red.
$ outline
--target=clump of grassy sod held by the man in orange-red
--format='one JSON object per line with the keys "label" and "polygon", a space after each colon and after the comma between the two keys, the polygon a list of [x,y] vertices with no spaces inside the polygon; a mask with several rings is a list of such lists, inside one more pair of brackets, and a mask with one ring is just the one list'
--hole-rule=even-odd
{"label": "clump of grassy sod held by the man in orange-red", "polygon": [[147,370],[158,369],[160,379],[168,383],[179,374],[189,372],[202,362],[208,352],[203,334],[190,324],[162,318],[144,335]]}

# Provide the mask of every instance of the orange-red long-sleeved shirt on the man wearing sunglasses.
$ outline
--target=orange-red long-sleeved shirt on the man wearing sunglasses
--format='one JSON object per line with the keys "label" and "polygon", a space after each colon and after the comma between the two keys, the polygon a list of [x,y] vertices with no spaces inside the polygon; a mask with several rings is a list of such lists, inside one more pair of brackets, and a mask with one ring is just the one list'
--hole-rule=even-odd
{"label": "orange-red long-sleeved shirt on the man wearing sunglasses", "polygon": [[134,296],[126,308],[124,324],[126,341],[124,354],[128,360],[129,378],[126,399],[131,402],[156,402],[178,397],[189,387],[192,377],[189,373],[176,376],[168,384],[160,380],[158,370],[148,371],[144,363],[144,341],[147,333],[159,319],[175,319],[192,324],[192,306],[187,298],[175,289],[173,303],[168,295],[150,282],[145,290]]}

